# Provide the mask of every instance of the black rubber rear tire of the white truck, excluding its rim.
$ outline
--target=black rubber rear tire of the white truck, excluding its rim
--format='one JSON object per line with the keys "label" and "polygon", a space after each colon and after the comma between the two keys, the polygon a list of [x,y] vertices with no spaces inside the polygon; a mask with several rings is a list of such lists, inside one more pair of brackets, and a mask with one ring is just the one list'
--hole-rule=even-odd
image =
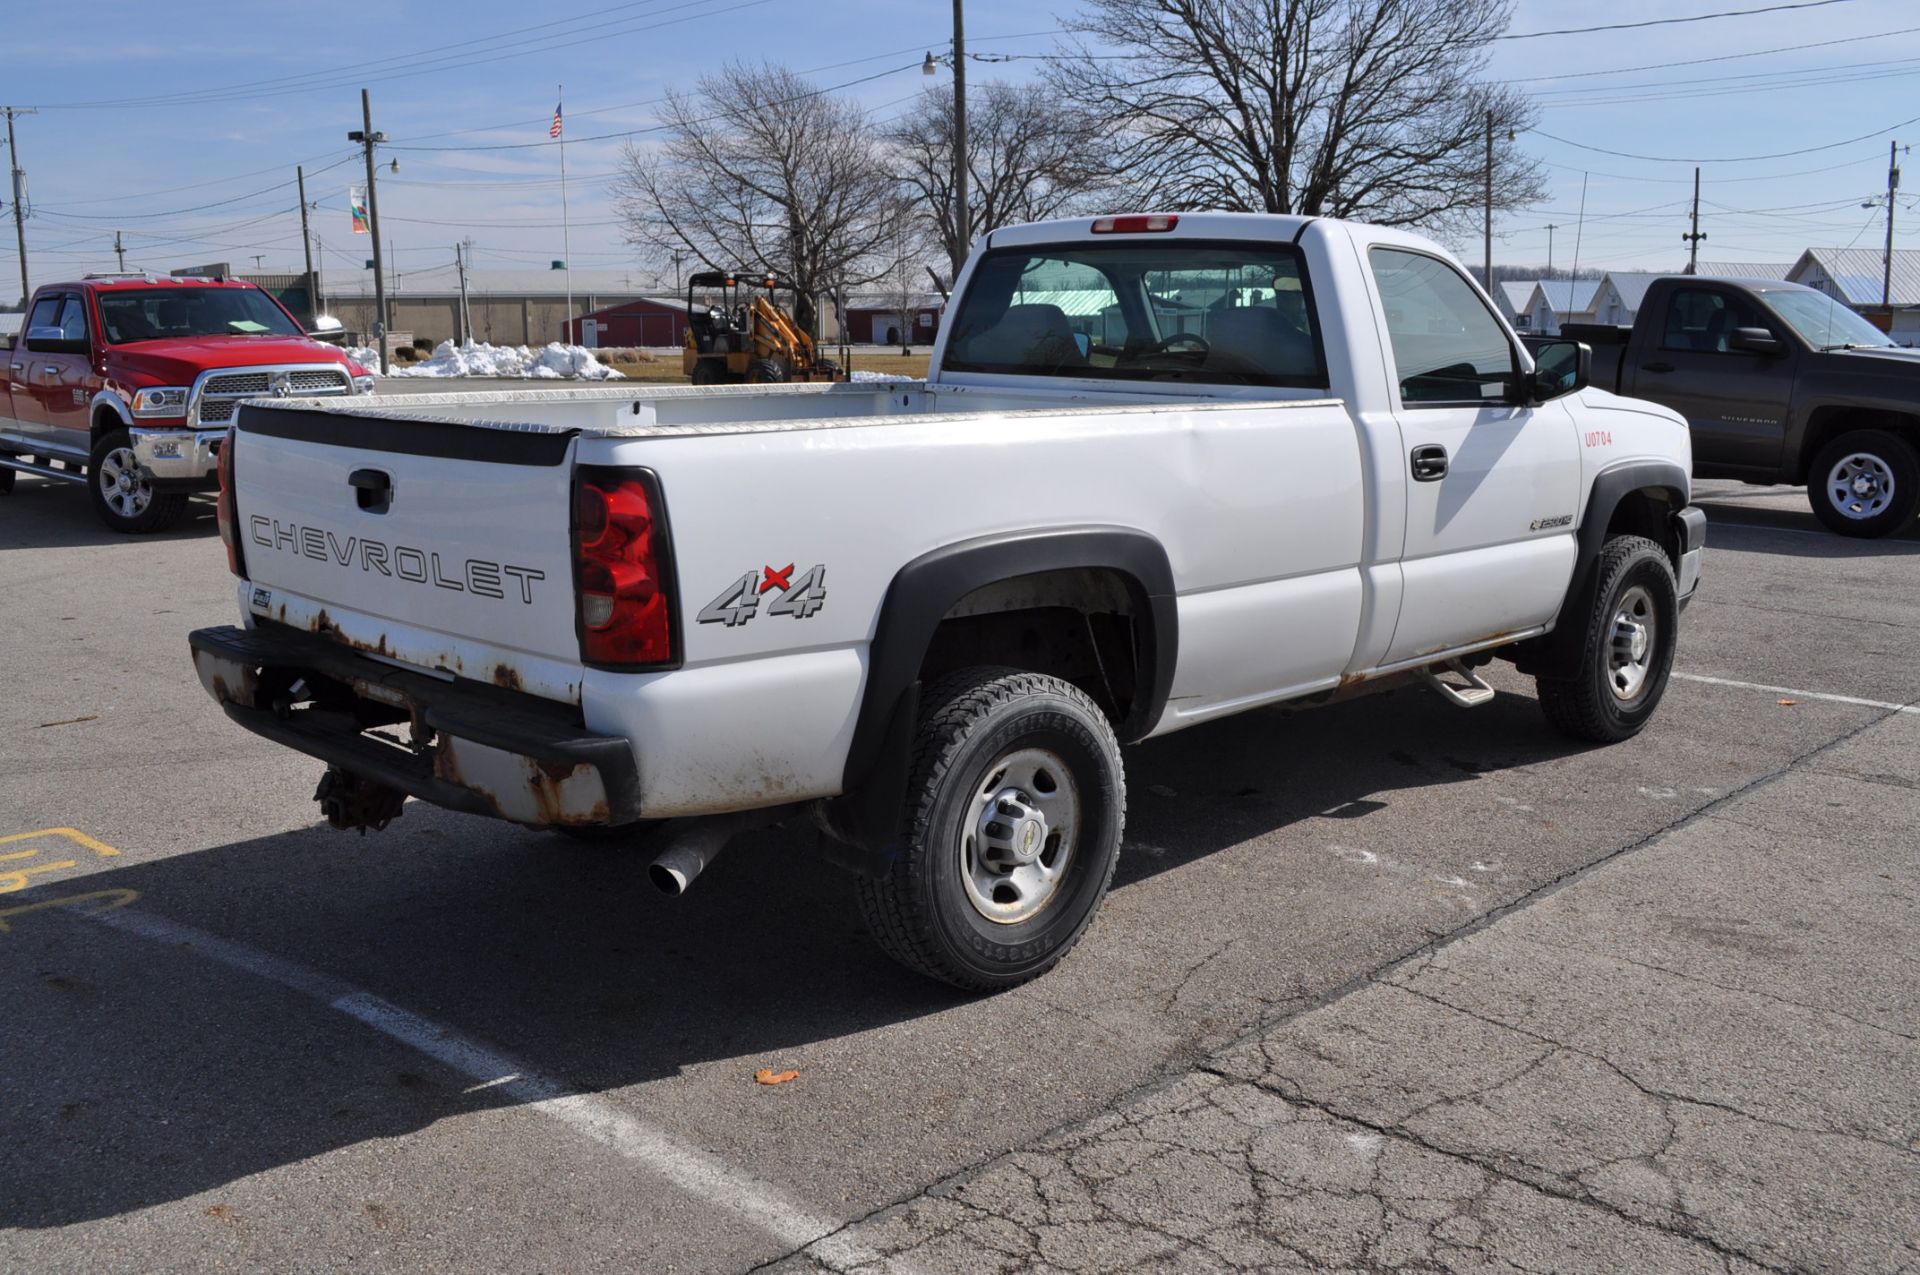
{"label": "black rubber rear tire of the white truck, excluding its rim", "polygon": [[[900,841],[860,912],[908,970],[966,991],[1004,991],[1052,970],[1092,922],[1119,862],[1127,782],[1106,714],[1077,687],[1016,668],[970,668],[927,686]],[[964,883],[975,797],[1021,749],[1054,753],[1079,801],[1073,845],[1050,901],[1018,924],[983,916]]]}

